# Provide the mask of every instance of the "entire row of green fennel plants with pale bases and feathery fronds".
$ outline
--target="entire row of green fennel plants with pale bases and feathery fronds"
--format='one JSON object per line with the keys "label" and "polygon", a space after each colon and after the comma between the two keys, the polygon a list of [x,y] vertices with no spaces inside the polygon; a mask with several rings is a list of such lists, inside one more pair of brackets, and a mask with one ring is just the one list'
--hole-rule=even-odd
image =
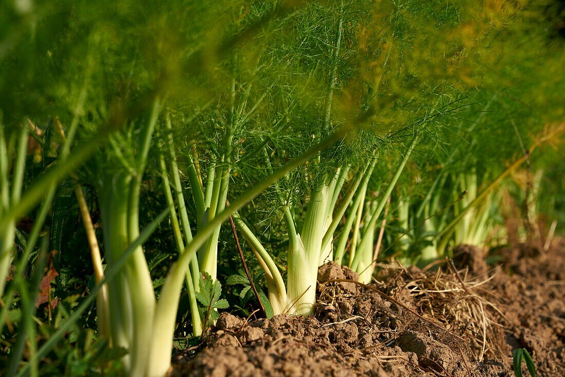
{"label": "entire row of green fennel plants with pale bases and feathery fronds", "polygon": [[[129,375],[164,375],[185,318],[198,336],[227,304],[220,284],[238,269],[223,229],[231,214],[275,314],[310,314],[329,260],[369,283],[389,250],[427,263],[460,242],[484,246],[501,218],[501,186],[520,164],[531,176],[547,167],[563,190],[554,164],[533,154],[562,140],[563,41],[547,5],[2,2],[8,375],[38,375],[51,350],[68,352],[58,341],[80,318],[93,326],[85,313],[103,287],[109,315],[98,326],[110,335],[98,333],[93,349],[106,347]],[[92,191],[93,215],[99,206],[106,277],[67,300],[72,272],[61,266],[53,293],[68,310],[36,311],[48,324],[51,310],[64,318],[36,344],[37,292],[23,288],[25,274],[42,266],[37,241],[48,228],[59,229],[49,242],[65,253],[58,263],[71,258],[77,241],[60,231],[71,220],[60,208],[50,216],[69,175]],[[26,231],[24,216],[34,220]],[[10,319],[21,313],[29,318]]]}

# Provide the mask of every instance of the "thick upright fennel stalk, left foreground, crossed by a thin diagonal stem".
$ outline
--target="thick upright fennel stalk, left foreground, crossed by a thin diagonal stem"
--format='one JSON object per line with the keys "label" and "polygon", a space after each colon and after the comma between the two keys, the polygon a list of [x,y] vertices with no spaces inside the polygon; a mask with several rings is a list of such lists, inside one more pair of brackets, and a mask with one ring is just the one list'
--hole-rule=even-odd
{"label": "thick upright fennel stalk, left foreground, crossed by a thin diagonal stem", "polygon": [[[108,265],[116,263],[139,233],[141,182],[147,154],[160,110],[155,99],[148,122],[142,128],[133,170],[109,174],[102,179],[101,215],[105,226]],[[153,281],[142,246],[137,246],[124,270],[108,284],[110,332],[116,346],[129,348],[124,359],[129,375],[145,374],[155,312]]]}

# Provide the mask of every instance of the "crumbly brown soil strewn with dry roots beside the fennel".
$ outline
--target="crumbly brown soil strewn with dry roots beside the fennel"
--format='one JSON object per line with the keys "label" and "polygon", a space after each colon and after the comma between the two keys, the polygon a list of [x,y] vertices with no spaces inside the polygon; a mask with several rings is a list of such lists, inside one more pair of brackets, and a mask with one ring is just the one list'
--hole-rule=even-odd
{"label": "crumbly brown soil strewn with dry roots beside the fennel", "polygon": [[388,264],[372,289],[328,281],[356,278],[328,263],[314,315],[246,322],[223,313],[171,376],[510,377],[512,349],[522,347],[538,376],[564,376],[565,239],[553,244],[501,250],[496,268],[469,246],[435,271]]}

